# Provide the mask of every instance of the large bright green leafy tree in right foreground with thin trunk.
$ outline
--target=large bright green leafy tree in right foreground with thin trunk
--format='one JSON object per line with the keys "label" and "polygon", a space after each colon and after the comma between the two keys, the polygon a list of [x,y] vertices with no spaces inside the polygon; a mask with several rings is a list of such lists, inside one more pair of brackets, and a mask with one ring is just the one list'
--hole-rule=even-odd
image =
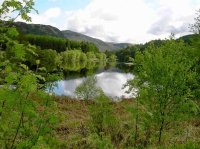
{"label": "large bright green leafy tree in right foreground with thin trunk", "polygon": [[192,71],[196,60],[190,55],[190,47],[173,40],[160,47],[152,45],[144,54],[136,55],[136,78],[132,85],[139,90],[138,97],[151,115],[149,129],[157,130],[158,142],[171,121],[183,120],[188,114],[189,109],[184,107],[192,99],[190,84],[196,81],[196,72]]}

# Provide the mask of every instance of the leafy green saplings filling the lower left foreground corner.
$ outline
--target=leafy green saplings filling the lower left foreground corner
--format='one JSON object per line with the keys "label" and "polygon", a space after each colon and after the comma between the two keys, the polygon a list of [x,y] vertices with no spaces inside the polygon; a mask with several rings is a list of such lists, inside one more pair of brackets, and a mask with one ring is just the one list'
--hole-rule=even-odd
{"label": "leafy green saplings filling the lower left foreground corner", "polygon": [[[27,72],[24,75],[6,79],[8,84],[16,80],[19,81],[13,89],[7,85],[0,88],[0,140],[2,140],[0,146],[3,148],[34,146],[39,136],[50,133],[52,124],[55,124],[52,121],[56,116],[53,110],[55,109],[54,102],[43,91],[37,91],[36,76]],[[35,98],[32,97],[33,94],[36,95]],[[37,101],[38,99],[40,101]]]}

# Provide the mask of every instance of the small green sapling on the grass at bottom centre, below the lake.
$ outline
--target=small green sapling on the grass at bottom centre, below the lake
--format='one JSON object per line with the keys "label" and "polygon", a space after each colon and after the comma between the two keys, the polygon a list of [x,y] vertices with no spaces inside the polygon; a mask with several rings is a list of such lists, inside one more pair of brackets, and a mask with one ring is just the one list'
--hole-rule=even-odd
{"label": "small green sapling on the grass at bottom centre, below the lake", "polygon": [[101,93],[89,107],[90,137],[95,148],[114,148],[117,136],[118,121],[113,114],[111,100]]}

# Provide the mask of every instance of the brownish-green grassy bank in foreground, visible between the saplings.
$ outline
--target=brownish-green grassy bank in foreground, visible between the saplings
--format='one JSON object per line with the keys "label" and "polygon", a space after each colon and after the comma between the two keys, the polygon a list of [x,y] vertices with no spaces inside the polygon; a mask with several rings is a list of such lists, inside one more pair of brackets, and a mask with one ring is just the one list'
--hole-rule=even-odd
{"label": "brownish-green grassy bank in foreground, visible between the saplings", "polygon": [[[90,130],[89,107],[93,101],[75,100],[67,97],[55,97],[60,122],[56,128],[56,139],[60,148],[95,148]],[[116,138],[112,141],[114,148],[134,148],[135,118],[130,111],[134,100],[111,102],[114,116],[117,118]],[[150,130],[154,132],[154,130]],[[163,142],[157,144],[155,134],[139,134],[137,148],[199,148],[200,118],[172,122],[163,136]],[[146,141],[146,142],[145,142]]]}

